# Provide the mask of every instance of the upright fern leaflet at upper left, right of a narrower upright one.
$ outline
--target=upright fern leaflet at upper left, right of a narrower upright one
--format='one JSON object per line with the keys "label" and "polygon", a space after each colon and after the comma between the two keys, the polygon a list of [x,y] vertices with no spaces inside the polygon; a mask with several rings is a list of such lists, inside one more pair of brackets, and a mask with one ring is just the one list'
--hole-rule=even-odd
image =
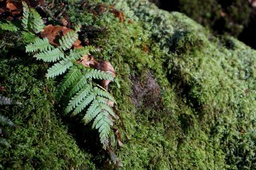
{"label": "upright fern leaflet at upper left, right of a narrower upright one", "polygon": [[29,26],[37,34],[44,30],[44,21],[35,9],[30,8],[30,11],[29,20],[31,20],[31,23],[29,23]]}

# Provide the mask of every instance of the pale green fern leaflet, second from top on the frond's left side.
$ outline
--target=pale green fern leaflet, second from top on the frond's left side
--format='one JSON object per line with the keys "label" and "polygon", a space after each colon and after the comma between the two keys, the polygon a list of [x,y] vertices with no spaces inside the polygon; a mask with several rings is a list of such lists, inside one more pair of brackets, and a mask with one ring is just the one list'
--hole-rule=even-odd
{"label": "pale green fern leaflet, second from top on the frond's left side", "polygon": [[44,62],[56,62],[64,58],[64,53],[59,48],[55,48],[54,50],[38,53],[35,57],[38,60],[44,60]]}

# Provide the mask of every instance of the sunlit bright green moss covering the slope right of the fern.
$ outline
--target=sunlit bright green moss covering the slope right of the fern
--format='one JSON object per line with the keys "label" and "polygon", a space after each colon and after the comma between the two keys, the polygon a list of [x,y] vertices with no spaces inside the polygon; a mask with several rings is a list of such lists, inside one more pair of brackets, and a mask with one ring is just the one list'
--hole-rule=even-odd
{"label": "sunlit bright green moss covering the slope right of the fern", "polygon": [[[254,94],[244,96],[248,85],[250,92],[255,89],[251,77],[255,52],[233,38],[220,41],[186,16],[157,10],[147,1],[115,2],[115,8],[133,22],[120,23],[106,12],[90,23],[106,27],[108,34],[91,41],[103,47],[99,59],[110,60],[120,80],[120,89],[111,85],[111,91],[122,120],[125,145],[118,157],[124,169],[255,166],[253,155],[239,152],[241,147],[254,150],[254,137],[245,137],[239,126],[249,134],[255,127]],[[138,76],[145,83],[148,70],[161,87],[161,101],[154,105],[150,94],[136,107],[129,79]],[[151,106],[145,104],[148,100]],[[248,122],[245,117],[250,117]]]}

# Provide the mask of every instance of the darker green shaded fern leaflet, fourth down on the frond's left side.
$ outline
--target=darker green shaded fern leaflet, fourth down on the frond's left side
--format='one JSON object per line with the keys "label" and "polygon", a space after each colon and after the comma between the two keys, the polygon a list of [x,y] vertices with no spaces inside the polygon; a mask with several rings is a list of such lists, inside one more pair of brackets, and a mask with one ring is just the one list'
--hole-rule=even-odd
{"label": "darker green shaded fern leaflet, fourth down on the frond's left side", "polygon": [[60,99],[65,90],[67,90],[68,87],[70,87],[72,83],[76,82],[76,80],[78,80],[81,76],[82,73],[80,69],[78,69],[77,66],[72,66],[60,83],[60,90],[58,91],[57,99]]}

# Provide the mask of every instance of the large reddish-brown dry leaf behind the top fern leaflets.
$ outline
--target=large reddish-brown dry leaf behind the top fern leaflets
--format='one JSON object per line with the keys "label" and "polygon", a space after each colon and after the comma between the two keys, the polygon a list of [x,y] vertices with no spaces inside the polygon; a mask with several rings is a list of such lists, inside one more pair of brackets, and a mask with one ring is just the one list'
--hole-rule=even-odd
{"label": "large reddish-brown dry leaf behind the top fern leaflets", "polygon": [[[44,28],[44,31],[41,32],[42,38],[47,38],[49,40],[49,43],[54,46],[59,46],[59,39],[61,36],[64,36],[67,34],[69,31],[73,31],[72,29],[69,29],[68,27],[65,26],[53,26],[53,25],[47,25]],[[74,47],[77,47],[81,44],[81,41],[77,39],[75,43],[73,43]]]}

